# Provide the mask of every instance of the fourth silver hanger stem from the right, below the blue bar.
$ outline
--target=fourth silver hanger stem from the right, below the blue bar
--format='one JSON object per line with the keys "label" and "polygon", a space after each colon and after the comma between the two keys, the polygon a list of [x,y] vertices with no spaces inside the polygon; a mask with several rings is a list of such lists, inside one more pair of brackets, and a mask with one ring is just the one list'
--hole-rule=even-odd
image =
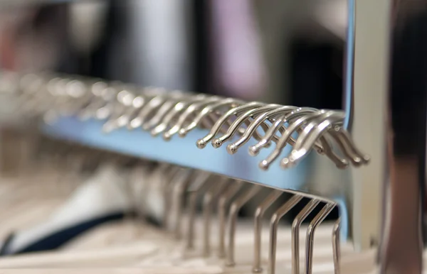
{"label": "fourth silver hanger stem from the right, below the blue bar", "polygon": [[[300,202],[302,196],[294,195],[283,204],[271,217],[270,221],[270,245],[268,246],[268,274],[275,274],[275,255],[278,242],[278,225],[280,219],[287,214],[292,207]],[[293,259],[293,256],[292,256]]]}

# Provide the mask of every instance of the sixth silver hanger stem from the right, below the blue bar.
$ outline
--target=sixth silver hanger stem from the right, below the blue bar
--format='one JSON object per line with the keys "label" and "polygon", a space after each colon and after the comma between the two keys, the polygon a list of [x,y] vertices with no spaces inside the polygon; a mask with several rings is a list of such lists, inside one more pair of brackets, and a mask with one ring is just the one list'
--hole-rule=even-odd
{"label": "sixth silver hanger stem from the right, below the blue bar", "polygon": [[249,199],[254,197],[260,192],[260,185],[251,185],[246,192],[237,197],[231,204],[230,212],[228,213],[228,245],[226,253],[226,265],[233,266],[236,264],[234,261],[234,236],[236,235],[237,214],[240,209],[246,204]]}

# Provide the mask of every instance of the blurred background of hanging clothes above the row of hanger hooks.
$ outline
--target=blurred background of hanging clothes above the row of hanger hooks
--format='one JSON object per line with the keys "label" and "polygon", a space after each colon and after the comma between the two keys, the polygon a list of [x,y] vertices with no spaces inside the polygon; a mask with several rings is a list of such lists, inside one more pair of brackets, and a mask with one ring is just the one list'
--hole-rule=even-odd
{"label": "blurred background of hanging clothes above the row of hanger hooks", "polygon": [[1,1],[0,66],[342,108],[347,1]]}

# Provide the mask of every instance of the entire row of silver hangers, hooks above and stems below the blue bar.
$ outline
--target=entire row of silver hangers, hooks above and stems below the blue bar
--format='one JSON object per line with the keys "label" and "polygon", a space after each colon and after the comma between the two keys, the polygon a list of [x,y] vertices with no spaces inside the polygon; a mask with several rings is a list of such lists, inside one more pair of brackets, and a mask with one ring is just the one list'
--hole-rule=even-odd
{"label": "entire row of silver hangers, hooks above and stems below the blue bar", "polygon": [[[261,149],[268,148],[275,143],[275,149],[268,155],[268,158],[260,162],[260,168],[263,169],[267,169],[283,153],[283,149],[288,144],[293,148],[290,154],[280,161],[283,168],[290,168],[300,163],[312,149],[326,155],[338,168],[346,168],[350,163],[359,166],[369,162],[369,157],[354,146],[349,133],[344,130],[342,126],[344,113],[342,111],[280,106],[260,102],[246,103],[236,99],[181,91],[168,92],[151,87],[140,90],[120,82],[107,83],[102,80],[84,79],[70,75],[10,73],[3,75],[0,82],[3,94],[11,95],[17,102],[16,113],[27,119],[32,119],[35,115],[43,117],[46,123],[54,123],[60,116],[71,115],[78,116],[83,121],[99,119],[105,121],[103,129],[106,132],[118,128],[130,130],[142,128],[149,131],[152,136],[162,134],[165,140],[169,140],[175,134],[184,137],[186,133],[195,128],[206,128],[209,133],[204,138],[200,138],[196,142],[196,146],[204,148],[207,143],[211,142],[214,148],[219,148],[226,141],[231,141],[233,136],[239,136],[237,141],[233,141],[227,146],[228,153],[231,154],[236,153],[236,150],[251,138],[258,141],[251,146],[251,155],[256,155]],[[263,133],[260,133],[260,130]],[[63,146],[62,149],[65,148],[66,146]],[[63,154],[60,151],[61,149],[56,149],[57,155]],[[96,154],[93,153],[93,155]],[[184,197],[188,202],[186,248],[194,246],[196,201],[199,195],[204,195],[202,210],[204,240],[201,250],[205,256],[209,255],[211,250],[209,239],[212,203],[214,197],[218,197],[218,258],[224,257],[226,265],[230,267],[235,265],[238,212],[248,200],[260,192],[261,186],[248,185],[240,180],[218,178],[209,172],[182,169],[173,165],[157,165],[153,169],[154,171],[151,172],[154,174],[160,172],[166,176],[159,185],[156,185],[162,189],[160,191],[162,195],[159,198],[159,196],[146,192],[147,197],[145,198],[157,197],[159,198],[157,200],[163,201],[164,204],[162,204],[162,209],[158,210],[157,216],[159,216],[159,212],[164,214],[160,218],[163,226],[167,229],[172,226],[177,239],[181,238],[183,231],[181,216],[184,212],[182,202]],[[150,177],[151,174],[149,172],[144,176]],[[213,176],[217,182],[211,181]],[[141,184],[137,185],[140,187]],[[247,185],[248,189],[241,190],[243,185]],[[226,186],[229,186],[227,190],[225,190]],[[129,190],[136,193],[132,188]],[[259,272],[261,269],[261,219],[265,210],[279,199],[283,192],[283,190],[271,192],[255,211],[253,272]],[[238,196],[235,197],[237,193]],[[305,273],[312,273],[315,230],[336,207],[336,204],[328,199],[312,197],[299,192],[291,193],[291,197],[273,214],[270,221],[269,273],[275,273],[278,222],[290,209],[304,197],[310,200],[292,222],[291,269],[292,273],[299,273],[300,226],[314,209],[320,208],[320,212],[310,221],[305,242],[304,269]],[[235,198],[233,199],[233,197]],[[147,199],[137,197],[139,201]],[[230,202],[230,208],[226,209],[226,205]],[[171,221],[173,218],[175,221]],[[330,232],[336,273],[339,272],[338,234],[339,220]],[[226,235],[228,235],[227,238]],[[228,239],[227,242],[226,239]]]}

